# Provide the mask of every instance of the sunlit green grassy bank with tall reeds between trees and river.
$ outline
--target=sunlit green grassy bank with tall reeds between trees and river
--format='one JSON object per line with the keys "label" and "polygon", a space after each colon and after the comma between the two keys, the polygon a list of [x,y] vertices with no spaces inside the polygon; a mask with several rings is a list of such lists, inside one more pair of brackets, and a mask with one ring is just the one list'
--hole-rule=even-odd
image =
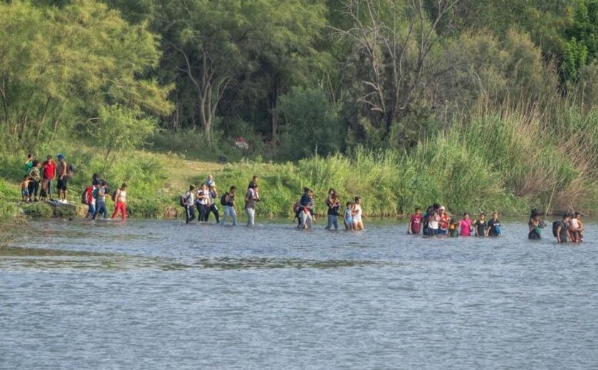
{"label": "sunlit green grassy bank with tall reeds between trees and river", "polygon": [[[592,214],[598,205],[598,114],[558,110],[546,117],[532,112],[478,112],[409,153],[356,148],[349,155],[311,157],[299,162],[241,160],[229,164],[199,162],[182,154],[157,148],[154,152],[131,151],[110,167],[93,147],[55,143],[38,150],[65,153],[77,165],[70,180],[70,201],[94,172],[112,185],[129,185],[130,213],[134,217],[177,217],[177,196],[189,184],[200,184],[214,174],[219,191],[231,185],[241,193],[253,174],[261,177],[261,216],[290,216],[290,206],[303,186],[314,189],[318,213],[325,213],[327,189],[334,188],[345,202],[361,196],[364,211],[372,216],[411,213],[416,206],[434,202],[453,213],[499,211],[505,216],[579,210]],[[0,169],[0,214],[19,213],[16,183],[23,176],[25,153],[7,154]],[[238,196],[242,199],[242,196]],[[241,203],[242,201],[239,201]],[[33,206],[28,206],[33,207]],[[48,215],[43,207],[23,210]]]}

